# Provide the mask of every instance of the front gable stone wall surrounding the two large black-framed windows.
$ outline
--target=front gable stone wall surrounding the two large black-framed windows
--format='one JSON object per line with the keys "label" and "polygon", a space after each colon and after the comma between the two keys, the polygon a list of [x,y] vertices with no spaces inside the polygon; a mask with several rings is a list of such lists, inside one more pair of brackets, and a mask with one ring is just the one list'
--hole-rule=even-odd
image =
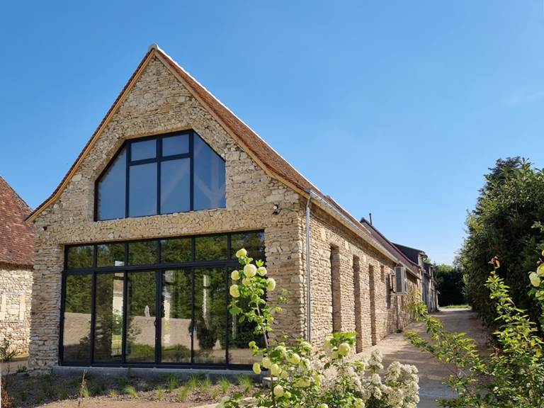
{"label": "front gable stone wall surrounding the two large black-framed windows", "polygon": [[[194,129],[226,161],[226,208],[94,222],[94,182],[126,139]],[[273,215],[273,205],[280,208]],[[282,330],[301,335],[303,298],[300,196],[271,179],[157,59],[130,90],[59,200],[35,220],[30,366],[58,361],[65,244],[263,229],[270,275],[290,293]],[[272,297],[273,300],[273,297]]]}

